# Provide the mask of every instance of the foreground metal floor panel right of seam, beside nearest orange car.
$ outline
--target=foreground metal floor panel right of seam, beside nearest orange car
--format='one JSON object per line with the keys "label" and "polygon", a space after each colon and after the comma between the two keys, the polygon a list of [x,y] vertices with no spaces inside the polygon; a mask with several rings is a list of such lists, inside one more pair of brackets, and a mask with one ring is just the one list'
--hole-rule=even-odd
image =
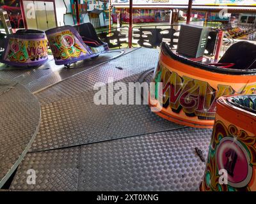
{"label": "foreground metal floor panel right of seam, beside nearest orange car", "polygon": [[79,190],[195,191],[205,164],[211,130],[175,131],[81,147]]}

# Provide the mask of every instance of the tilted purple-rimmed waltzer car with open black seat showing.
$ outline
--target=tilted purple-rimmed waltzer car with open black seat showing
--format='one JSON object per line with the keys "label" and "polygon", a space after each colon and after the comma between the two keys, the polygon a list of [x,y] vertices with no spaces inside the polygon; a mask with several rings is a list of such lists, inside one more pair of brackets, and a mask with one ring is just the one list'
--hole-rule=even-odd
{"label": "tilted purple-rimmed waltzer car with open black seat showing", "polygon": [[[97,57],[100,53],[108,51],[108,45],[106,43],[101,45],[99,41],[88,39],[84,41],[83,38],[86,38],[86,36],[82,38],[77,29],[79,27],[86,29],[88,27],[87,25],[76,25],[76,28],[65,25],[45,31],[56,64],[65,64],[65,66],[68,66],[68,64]],[[92,24],[90,25],[92,26]],[[93,26],[90,28],[90,32],[93,33]],[[86,45],[86,43],[92,43],[92,45]]]}

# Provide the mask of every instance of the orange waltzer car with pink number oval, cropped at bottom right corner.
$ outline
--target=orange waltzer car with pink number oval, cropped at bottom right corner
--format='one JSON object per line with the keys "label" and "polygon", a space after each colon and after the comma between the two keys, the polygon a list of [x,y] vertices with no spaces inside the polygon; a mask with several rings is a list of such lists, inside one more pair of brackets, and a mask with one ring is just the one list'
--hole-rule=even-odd
{"label": "orange waltzer car with pink number oval, cropped at bottom right corner", "polygon": [[256,95],[217,100],[201,191],[256,191],[255,125]]}

